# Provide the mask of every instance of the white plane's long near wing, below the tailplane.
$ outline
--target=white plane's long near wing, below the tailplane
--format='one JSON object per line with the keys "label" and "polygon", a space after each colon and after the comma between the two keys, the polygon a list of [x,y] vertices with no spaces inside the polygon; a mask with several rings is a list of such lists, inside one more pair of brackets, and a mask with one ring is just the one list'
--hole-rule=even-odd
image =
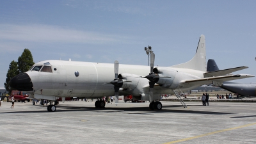
{"label": "white plane's long near wing, below the tailplane", "polygon": [[180,88],[187,88],[193,85],[204,85],[209,83],[221,84],[223,81],[244,79],[248,77],[254,77],[254,76],[250,74],[236,74],[236,75],[228,75],[228,76],[207,77],[202,79],[183,80],[183,81],[180,81],[179,86]]}

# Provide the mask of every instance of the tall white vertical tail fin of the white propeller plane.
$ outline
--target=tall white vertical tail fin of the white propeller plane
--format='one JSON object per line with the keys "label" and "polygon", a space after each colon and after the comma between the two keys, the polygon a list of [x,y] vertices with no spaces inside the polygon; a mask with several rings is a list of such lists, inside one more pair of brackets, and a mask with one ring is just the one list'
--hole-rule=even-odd
{"label": "tall white vertical tail fin of the white propeller plane", "polygon": [[189,68],[193,70],[206,71],[206,52],[205,52],[205,37],[201,35],[196,49],[195,56],[186,63],[173,65],[171,67]]}

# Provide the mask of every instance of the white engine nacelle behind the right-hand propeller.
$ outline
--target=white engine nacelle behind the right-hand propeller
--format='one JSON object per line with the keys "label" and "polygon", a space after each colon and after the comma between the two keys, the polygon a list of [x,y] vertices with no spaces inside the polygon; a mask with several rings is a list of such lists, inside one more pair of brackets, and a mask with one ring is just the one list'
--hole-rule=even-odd
{"label": "white engine nacelle behind the right-hand propeller", "polygon": [[170,88],[177,74],[177,70],[168,67],[156,67],[153,69],[153,72],[159,76],[156,79],[156,83],[160,84],[163,88]]}

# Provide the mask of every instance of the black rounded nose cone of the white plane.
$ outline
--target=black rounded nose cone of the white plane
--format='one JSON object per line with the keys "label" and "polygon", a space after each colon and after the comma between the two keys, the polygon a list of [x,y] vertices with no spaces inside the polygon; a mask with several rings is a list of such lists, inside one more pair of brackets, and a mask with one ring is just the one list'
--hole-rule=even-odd
{"label": "black rounded nose cone of the white plane", "polygon": [[33,83],[27,73],[13,77],[10,81],[10,86],[19,91],[33,91]]}

